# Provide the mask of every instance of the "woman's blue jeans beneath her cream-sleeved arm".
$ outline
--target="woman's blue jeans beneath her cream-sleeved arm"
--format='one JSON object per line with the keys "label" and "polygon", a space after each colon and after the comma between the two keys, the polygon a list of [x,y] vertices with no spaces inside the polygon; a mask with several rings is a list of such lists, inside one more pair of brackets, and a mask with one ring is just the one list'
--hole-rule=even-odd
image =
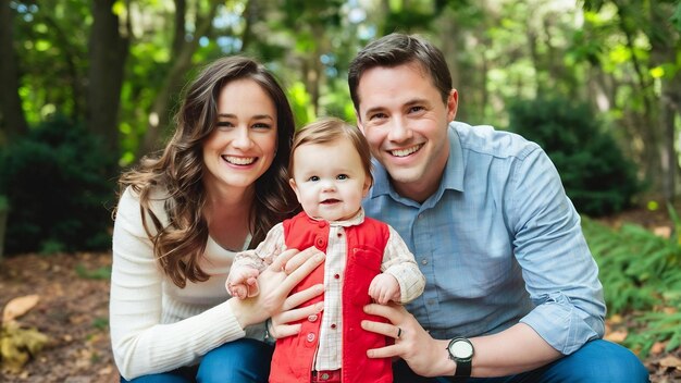
{"label": "woman's blue jeans beneath her cream-sleeved arm", "polygon": [[249,338],[225,343],[208,351],[198,366],[121,382],[134,383],[267,383],[274,347]]}

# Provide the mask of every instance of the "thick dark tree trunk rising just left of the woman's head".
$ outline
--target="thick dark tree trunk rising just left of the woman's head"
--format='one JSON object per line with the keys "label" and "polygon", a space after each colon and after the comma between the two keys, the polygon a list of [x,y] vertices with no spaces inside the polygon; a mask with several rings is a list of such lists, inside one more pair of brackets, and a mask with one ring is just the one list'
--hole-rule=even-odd
{"label": "thick dark tree trunk rising just left of the woman's head", "polygon": [[112,12],[115,2],[92,2],[86,125],[104,139],[110,152],[119,156],[117,116],[129,40],[119,33],[119,16]]}

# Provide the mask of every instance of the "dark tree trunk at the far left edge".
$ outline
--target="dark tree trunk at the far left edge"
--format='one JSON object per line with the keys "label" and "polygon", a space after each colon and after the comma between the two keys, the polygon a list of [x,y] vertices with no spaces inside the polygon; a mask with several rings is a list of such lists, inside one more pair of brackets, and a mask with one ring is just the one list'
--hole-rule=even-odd
{"label": "dark tree trunk at the far left edge", "polygon": [[0,147],[28,131],[18,97],[18,66],[14,51],[14,14],[9,0],[0,1]]}

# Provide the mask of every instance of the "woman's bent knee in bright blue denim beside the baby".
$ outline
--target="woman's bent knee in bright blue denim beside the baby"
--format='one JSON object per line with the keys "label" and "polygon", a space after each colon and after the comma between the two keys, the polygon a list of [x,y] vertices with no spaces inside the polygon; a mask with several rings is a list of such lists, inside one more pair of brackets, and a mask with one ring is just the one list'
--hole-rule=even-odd
{"label": "woman's bent knee in bright blue denim beside the baby", "polygon": [[203,356],[197,382],[267,383],[273,350],[272,346],[250,338],[225,343]]}

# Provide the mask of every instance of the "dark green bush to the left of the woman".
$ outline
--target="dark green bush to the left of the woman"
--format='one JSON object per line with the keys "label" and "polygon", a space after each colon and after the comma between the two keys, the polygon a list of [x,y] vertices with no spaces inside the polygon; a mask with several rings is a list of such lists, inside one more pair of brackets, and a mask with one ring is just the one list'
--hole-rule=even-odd
{"label": "dark green bush to the left of the woman", "polygon": [[110,246],[112,156],[79,124],[55,118],[0,155],[0,194],[12,207],[8,254]]}

